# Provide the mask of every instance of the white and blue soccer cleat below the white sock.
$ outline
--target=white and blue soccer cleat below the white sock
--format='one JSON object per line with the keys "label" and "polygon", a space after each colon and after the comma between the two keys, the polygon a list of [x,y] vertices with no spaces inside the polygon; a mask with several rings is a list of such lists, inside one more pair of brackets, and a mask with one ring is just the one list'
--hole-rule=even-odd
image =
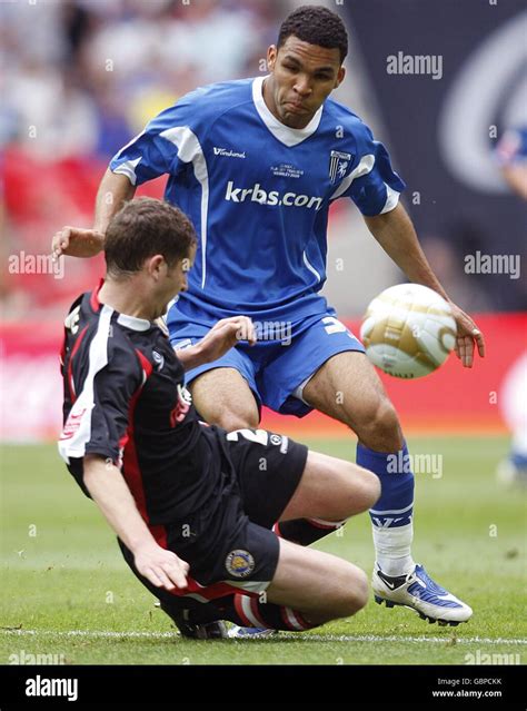
{"label": "white and blue soccer cleat below the white sock", "polygon": [[371,587],[379,605],[384,602],[387,608],[410,608],[430,623],[456,626],[473,614],[468,605],[434,582],[422,565],[416,565],[407,575],[390,577],[376,563]]}

